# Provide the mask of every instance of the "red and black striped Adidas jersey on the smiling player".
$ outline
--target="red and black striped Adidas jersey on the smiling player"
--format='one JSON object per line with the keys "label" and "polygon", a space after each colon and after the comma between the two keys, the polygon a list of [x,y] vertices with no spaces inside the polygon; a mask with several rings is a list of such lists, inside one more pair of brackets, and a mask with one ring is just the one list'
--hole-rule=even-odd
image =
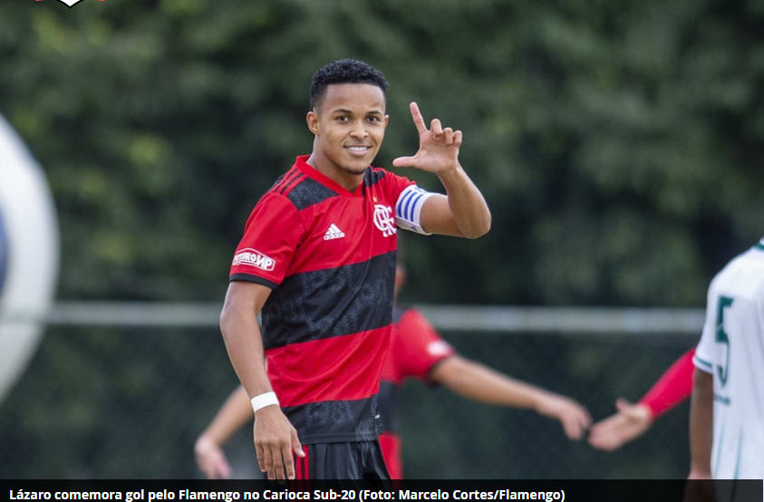
{"label": "red and black striped Adidas jersey on the smiling player", "polygon": [[247,219],[230,280],[272,288],[268,377],[304,444],[376,439],[397,228],[409,179],[368,168],[353,192],[295,160]]}

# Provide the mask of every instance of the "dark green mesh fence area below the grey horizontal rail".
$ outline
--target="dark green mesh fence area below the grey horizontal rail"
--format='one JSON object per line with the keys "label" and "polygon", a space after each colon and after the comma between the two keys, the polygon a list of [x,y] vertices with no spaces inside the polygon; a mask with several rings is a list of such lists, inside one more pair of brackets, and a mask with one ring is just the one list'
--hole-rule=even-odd
{"label": "dark green mesh fence area below the grey horizontal rail", "polygon": [[[696,337],[444,332],[463,355],[566,393],[597,418],[636,399]],[[3,478],[197,478],[192,447],[237,384],[209,328],[62,326],[0,406]],[[688,406],[615,453],[570,442],[556,421],[411,381],[401,392],[409,478],[682,478]],[[227,445],[255,476],[251,428]]]}

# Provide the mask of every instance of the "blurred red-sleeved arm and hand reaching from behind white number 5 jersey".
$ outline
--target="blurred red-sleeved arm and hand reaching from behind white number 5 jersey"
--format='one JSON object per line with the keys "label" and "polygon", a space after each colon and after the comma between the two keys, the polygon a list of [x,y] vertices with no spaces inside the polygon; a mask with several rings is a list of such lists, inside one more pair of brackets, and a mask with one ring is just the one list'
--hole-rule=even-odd
{"label": "blurred red-sleeved arm and hand reaching from behind white number 5 jersey", "polygon": [[684,352],[673,362],[636,404],[618,398],[613,415],[600,420],[589,431],[589,444],[596,449],[612,451],[642,436],[653,421],[690,396],[692,391],[692,356],[695,349]]}

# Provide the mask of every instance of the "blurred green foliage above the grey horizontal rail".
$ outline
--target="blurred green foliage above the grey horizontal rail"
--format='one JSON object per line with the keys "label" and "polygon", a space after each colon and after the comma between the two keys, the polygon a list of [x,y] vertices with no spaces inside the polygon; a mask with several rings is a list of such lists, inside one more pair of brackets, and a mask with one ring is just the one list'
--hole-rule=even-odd
{"label": "blurred green foliage above the grey horizontal rail", "polygon": [[392,82],[377,164],[417,100],[493,210],[476,242],[411,237],[404,298],[696,305],[764,228],[758,2],[6,4],[0,112],[53,186],[63,297],[221,298],[340,57]]}

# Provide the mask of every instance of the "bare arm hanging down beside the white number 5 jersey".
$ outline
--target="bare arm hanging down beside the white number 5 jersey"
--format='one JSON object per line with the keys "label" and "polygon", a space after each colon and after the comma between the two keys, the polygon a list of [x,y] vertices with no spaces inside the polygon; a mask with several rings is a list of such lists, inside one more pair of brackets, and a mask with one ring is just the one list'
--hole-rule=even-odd
{"label": "bare arm hanging down beside the white number 5 jersey", "polygon": [[711,478],[713,445],[713,376],[695,368],[690,404],[690,476]]}

